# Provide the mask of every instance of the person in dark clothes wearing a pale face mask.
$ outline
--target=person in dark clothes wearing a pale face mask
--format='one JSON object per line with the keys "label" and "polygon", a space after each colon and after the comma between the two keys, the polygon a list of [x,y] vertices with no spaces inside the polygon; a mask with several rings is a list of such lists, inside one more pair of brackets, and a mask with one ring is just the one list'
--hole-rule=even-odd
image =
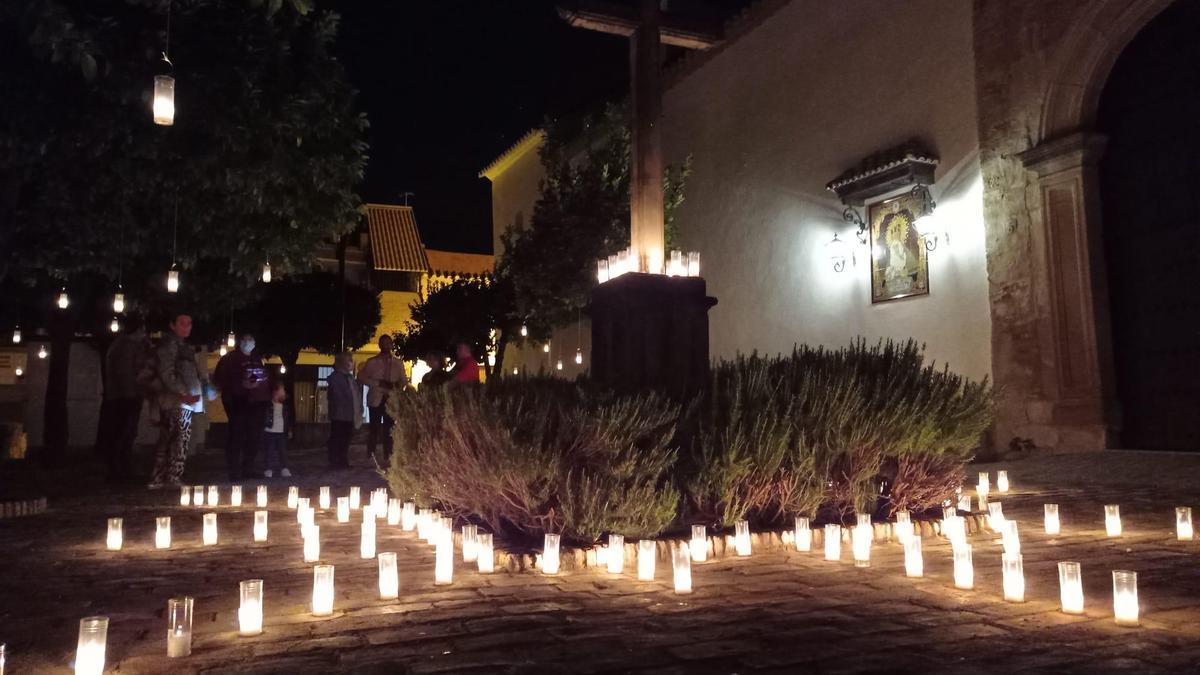
{"label": "person in dark clothes wearing a pale face mask", "polygon": [[242,335],[238,350],[221,357],[212,374],[229,417],[226,466],[233,482],[260,476],[254,470],[254,458],[263,442],[263,419],[271,402],[271,388],[256,347],[253,335]]}

